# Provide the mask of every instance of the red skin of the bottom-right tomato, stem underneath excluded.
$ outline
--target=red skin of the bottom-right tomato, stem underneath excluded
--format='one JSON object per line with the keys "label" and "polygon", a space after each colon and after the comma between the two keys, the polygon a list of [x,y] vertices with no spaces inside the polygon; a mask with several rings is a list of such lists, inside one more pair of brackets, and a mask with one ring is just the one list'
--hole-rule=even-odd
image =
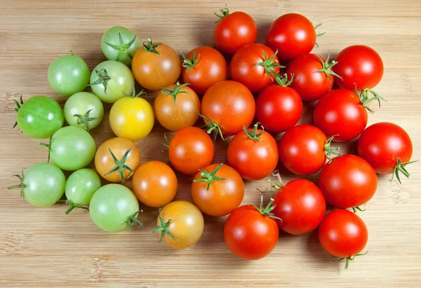
{"label": "red skin of the bottom-right tomato, stem underneath excluded", "polygon": [[348,258],[359,254],[366,247],[366,224],[352,211],[337,209],[330,212],[319,226],[321,247],[330,255]]}

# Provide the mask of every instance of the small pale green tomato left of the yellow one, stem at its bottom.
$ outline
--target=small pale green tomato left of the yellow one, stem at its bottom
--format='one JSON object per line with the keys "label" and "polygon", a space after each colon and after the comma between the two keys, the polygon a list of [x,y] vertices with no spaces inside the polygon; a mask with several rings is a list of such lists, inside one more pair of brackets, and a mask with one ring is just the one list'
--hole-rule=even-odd
{"label": "small pale green tomato left of the yellow one, stem at its bottom", "polygon": [[86,131],[98,126],[104,116],[104,105],[93,93],[79,92],[67,99],[65,119],[69,125],[79,126]]}

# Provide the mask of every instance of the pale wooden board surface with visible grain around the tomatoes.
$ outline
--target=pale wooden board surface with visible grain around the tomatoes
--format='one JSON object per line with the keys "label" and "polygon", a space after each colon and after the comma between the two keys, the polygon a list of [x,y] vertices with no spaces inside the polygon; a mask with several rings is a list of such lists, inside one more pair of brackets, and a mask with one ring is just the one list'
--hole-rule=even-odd
{"label": "pale wooden board surface with visible grain around the tomatoes", "polygon": [[[123,25],[140,39],[152,35],[187,52],[213,46],[214,11],[227,2],[232,11],[250,13],[258,23],[258,41],[265,43],[270,23],[283,13],[303,13],[326,35],[316,53],[336,55],[352,44],[367,44],[385,63],[376,90],[388,102],[370,115],[369,124],[395,122],[413,139],[413,159],[421,158],[421,1],[6,1],[0,0],[0,275],[1,287],[420,287],[421,164],[411,165],[402,185],[379,176],[375,197],[361,213],[369,230],[368,255],[348,270],[321,249],[315,233],[281,235],[273,253],[260,261],[241,261],[229,253],[222,230],[224,218],[206,217],[203,237],[194,247],[175,251],[152,235],[156,210],[143,207],[145,226],[107,234],[89,214],[65,206],[39,209],[25,203],[11,175],[46,161],[37,140],[11,130],[13,99],[51,96],[46,73],[58,55],[69,50],[88,66],[105,60],[100,37],[107,28]],[[148,96],[153,101],[154,94]],[[109,106],[107,107],[109,109]],[[311,122],[307,105],[300,122]],[[164,130],[156,124],[138,146],[142,162],[166,160],[159,142]],[[113,136],[107,114],[92,131],[97,145]],[[279,139],[279,136],[277,136]],[[340,145],[355,151],[354,143]],[[215,162],[226,160],[227,143],[218,143]],[[294,178],[283,172],[285,181]],[[316,176],[309,177],[316,181]],[[191,200],[191,176],[181,176],[177,199]],[[130,186],[130,183],[128,183]],[[246,183],[243,203],[256,203],[256,188],[267,181]]]}

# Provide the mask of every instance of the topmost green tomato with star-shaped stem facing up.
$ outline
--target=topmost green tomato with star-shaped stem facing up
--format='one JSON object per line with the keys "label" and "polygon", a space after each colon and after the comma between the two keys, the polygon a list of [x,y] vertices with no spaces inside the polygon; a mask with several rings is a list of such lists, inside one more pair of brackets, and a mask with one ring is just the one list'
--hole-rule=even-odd
{"label": "topmost green tomato with star-shaped stem facing up", "polygon": [[142,42],[136,34],[121,26],[109,28],[101,38],[101,49],[105,57],[125,65],[131,65],[133,56],[141,46]]}

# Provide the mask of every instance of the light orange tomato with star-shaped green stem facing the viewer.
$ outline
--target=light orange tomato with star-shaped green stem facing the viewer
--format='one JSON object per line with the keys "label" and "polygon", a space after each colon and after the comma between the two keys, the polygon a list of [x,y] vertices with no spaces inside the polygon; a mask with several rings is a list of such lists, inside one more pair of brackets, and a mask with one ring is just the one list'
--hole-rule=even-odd
{"label": "light orange tomato with star-shaped green stem facing the viewer", "polygon": [[126,138],[111,138],[100,145],[95,154],[95,169],[109,182],[130,178],[140,165],[138,146]]}

